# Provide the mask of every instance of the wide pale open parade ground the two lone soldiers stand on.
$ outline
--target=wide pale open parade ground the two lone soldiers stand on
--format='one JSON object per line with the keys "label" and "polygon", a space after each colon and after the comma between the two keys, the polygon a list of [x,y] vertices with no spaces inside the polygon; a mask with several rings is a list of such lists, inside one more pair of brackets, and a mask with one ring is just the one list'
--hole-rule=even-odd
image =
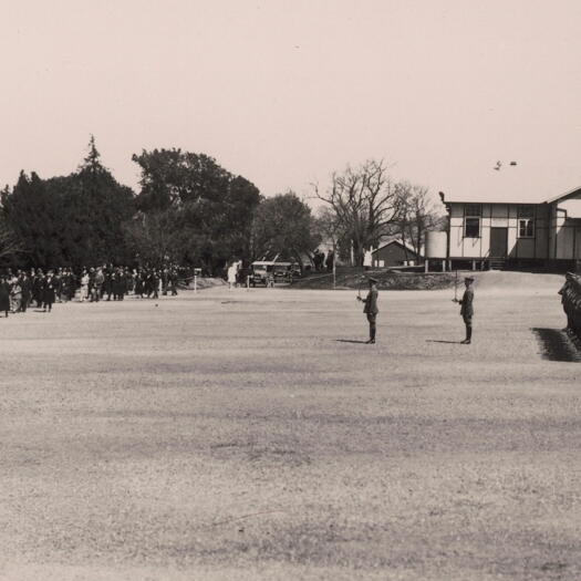
{"label": "wide pale open parade ground the two lone soldiers stand on", "polygon": [[[581,364],[547,274],[0,319],[0,578],[581,578]],[[533,332],[532,329],[540,331]],[[539,334],[540,333],[540,334]]]}

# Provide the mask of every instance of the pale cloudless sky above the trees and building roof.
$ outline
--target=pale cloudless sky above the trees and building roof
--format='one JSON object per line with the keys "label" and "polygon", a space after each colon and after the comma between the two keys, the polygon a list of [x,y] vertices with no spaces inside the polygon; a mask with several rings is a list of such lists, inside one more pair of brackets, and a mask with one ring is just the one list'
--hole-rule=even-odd
{"label": "pale cloudless sky above the trees and building roof", "polygon": [[267,196],[383,158],[546,199],[581,186],[580,27],[578,0],[0,0],[0,185],[93,134],[135,188],[132,154],[180,147]]}

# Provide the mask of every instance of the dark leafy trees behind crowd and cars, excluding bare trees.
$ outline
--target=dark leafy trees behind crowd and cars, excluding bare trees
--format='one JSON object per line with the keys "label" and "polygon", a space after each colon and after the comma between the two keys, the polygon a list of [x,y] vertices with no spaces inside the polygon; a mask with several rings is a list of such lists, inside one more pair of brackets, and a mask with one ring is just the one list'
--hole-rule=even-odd
{"label": "dark leafy trees behind crowd and cars, excluding bare trees", "polygon": [[321,241],[295,194],[264,198],[204,154],[143,151],[141,190],[118,184],[94,138],[63,177],[20,174],[1,193],[0,259],[21,267],[191,264],[216,272],[234,258],[301,260]]}

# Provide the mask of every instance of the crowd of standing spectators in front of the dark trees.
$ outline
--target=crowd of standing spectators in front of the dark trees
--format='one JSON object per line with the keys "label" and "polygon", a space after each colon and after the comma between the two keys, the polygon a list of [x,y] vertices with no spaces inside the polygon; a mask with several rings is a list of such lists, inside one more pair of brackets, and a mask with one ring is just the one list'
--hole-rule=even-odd
{"label": "crowd of standing spectators in front of the dark trees", "polygon": [[0,313],[27,312],[30,307],[50,312],[55,302],[122,301],[127,294],[157,299],[177,294],[179,273],[165,268],[95,267],[12,270],[0,276]]}

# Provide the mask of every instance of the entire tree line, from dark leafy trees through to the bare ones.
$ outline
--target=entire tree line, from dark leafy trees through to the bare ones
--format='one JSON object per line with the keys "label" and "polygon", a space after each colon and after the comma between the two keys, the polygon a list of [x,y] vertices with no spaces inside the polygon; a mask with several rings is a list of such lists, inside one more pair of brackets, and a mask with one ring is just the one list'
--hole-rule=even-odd
{"label": "entire tree line, from dark leafy trees through to the bare ones", "polygon": [[437,221],[427,190],[393,183],[383,162],[334,174],[324,191],[313,185],[314,216],[294,193],[264,198],[204,154],[154,149],[133,160],[137,194],[103,166],[93,137],[69,176],[22,172],[1,193],[0,260],[43,268],[173,261],[214,273],[232,258],[302,262],[333,240],[361,262],[385,236],[419,248]]}

